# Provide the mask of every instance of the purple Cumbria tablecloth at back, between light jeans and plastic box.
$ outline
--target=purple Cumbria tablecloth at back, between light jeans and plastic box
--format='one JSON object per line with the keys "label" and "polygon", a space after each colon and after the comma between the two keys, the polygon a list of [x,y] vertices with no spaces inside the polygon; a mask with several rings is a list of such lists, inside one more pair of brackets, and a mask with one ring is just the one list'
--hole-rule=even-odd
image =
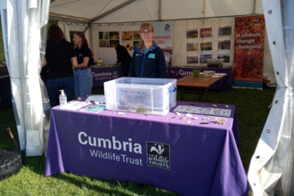
{"label": "purple Cumbria tablecloth at back, between light jeans and plastic box", "polygon": [[91,68],[93,76],[93,87],[103,87],[104,82],[111,79],[124,77],[123,69],[118,67],[102,67],[102,68]]}

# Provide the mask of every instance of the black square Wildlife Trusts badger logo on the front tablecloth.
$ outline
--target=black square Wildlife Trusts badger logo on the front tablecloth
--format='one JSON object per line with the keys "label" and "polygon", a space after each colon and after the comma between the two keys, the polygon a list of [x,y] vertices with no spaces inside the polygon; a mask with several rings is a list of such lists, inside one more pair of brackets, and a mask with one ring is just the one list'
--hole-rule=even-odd
{"label": "black square Wildlife Trusts badger logo on the front tablecloth", "polygon": [[166,143],[147,142],[147,166],[170,170],[170,146]]}

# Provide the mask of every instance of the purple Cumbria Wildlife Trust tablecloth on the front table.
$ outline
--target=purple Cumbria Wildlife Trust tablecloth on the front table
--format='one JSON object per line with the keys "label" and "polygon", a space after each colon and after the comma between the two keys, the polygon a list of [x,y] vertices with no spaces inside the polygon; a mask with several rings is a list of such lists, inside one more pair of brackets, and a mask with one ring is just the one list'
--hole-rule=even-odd
{"label": "purple Cumbria Wildlife Trust tablecloth on the front table", "polygon": [[[177,102],[211,107],[209,103]],[[225,108],[225,105],[218,105]],[[235,107],[225,125],[199,119],[100,113],[51,112],[45,176],[83,176],[151,184],[181,195],[247,195],[249,184],[236,145],[240,143]],[[187,123],[191,120],[191,123]]]}

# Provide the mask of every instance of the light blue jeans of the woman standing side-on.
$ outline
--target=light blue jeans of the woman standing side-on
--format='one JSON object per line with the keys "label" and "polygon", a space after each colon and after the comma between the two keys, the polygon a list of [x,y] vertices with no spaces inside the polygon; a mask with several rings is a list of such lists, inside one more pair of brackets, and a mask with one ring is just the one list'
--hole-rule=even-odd
{"label": "light blue jeans of the woman standing side-on", "polygon": [[74,74],[76,99],[92,94],[93,77],[91,69],[76,69]]}

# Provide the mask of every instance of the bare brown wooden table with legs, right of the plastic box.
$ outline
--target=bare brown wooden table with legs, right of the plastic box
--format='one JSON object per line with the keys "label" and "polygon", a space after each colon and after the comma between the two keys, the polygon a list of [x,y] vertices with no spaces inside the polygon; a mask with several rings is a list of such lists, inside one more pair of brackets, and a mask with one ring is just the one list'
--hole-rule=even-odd
{"label": "bare brown wooden table with legs, right of the plastic box", "polygon": [[[221,78],[225,78],[227,74],[217,75],[218,78],[205,78],[203,74],[200,74],[199,77],[194,77],[193,75],[177,79],[177,86],[189,86],[189,87],[199,87],[199,102],[201,101],[201,98],[203,97],[205,91],[201,93],[203,88],[208,88],[211,85],[215,84],[217,82],[217,86],[219,86],[219,80]],[[217,96],[221,102],[222,99],[219,96],[219,91],[217,90]],[[190,92],[191,93],[191,92]],[[181,89],[181,101],[184,98],[184,88]]]}

